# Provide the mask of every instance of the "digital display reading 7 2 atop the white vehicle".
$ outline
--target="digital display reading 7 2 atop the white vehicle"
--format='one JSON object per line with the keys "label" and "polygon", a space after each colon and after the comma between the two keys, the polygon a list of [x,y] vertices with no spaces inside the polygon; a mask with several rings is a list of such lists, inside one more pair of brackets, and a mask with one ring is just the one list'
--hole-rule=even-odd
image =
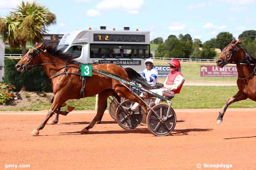
{"label": "digital display reading 7 2 atop the white vehicle", "polygon": [[93,34],[93,41],[145,42],[145,35]]}

